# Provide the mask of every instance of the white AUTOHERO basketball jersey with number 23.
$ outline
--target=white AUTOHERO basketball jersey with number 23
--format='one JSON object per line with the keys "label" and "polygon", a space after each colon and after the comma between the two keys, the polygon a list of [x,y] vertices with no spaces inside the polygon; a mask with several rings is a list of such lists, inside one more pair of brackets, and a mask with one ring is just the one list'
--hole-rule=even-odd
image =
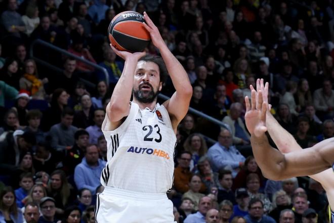
{"label": "white AUTOHERO basketball jersey with number 23", "polygon": [[163,105],[156,104],[151,111],[132,102],[126,120],[103,134],[108,162],[102,185],[143,193],[166,193],[172,188],[176,135]]}

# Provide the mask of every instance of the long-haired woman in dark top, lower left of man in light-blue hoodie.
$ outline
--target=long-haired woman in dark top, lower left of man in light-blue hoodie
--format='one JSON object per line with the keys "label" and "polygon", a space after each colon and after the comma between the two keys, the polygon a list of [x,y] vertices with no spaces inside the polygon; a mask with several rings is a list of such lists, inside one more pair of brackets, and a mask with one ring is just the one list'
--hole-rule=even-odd
{"label": "long-haired woman in dark top, lower left of man in light-blue hoodie", "polygon": [[[67,177],[64,171],[55,170],[50,175],[50,182],[48,187],[48,196],[52,197],[55,201],[56,214],[61,216],[64,213],[64,209],[75,198],[75,192],[73,187],[67,181]],[[43,209],[43,200],[41,199],[40,207]]]}

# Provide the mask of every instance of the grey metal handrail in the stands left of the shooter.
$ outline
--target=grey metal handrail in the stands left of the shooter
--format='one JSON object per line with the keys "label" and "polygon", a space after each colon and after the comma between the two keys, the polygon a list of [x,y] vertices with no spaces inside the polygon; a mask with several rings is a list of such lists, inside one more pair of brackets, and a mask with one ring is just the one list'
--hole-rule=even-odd
{"label": "grey metal handrail in the stands left of the shooter", "polygon": [[[83,63],[86,63],[86,64],[88,64],[88,65],[90,65],[90,66],[93,66],[94,68],[96,68],[96,69],[98,69],[98,70],[100,70],[100,71],[103,72],[103,74],[104,74],[104,76],[105,76],[105,81],[106,81],[107,83],[109,83],[109,75],[108,75],[108,71],[106,70],[106,68],[104,68],[104,67],[102,67],[102,66],[99,66],[98,64],[92,63],[91,61],[88,61],[88,60],[83,59],[83,58],[81,58],[81,57],[78,57],[78,56],[76,56],[76,55],[74,55],[74,54],[71,54],[71,53],[67,52],[66,50],[61,49],[61,48],[59,48],[59,47],[56,47],[56,46],[54,46],[54,45],[52,45],[52,44],[50,44],[50,43],[48,43],[48,42],[45,42],[45,41],[43,41],[43,40],[38,40],[38,39],[37,39],[37,40],[34,40],[34,41],[31,43],[31,47],[30,47],[30,58],[31,58],[31,59],[34,59],[37,63],[40,63],[41,65],[44,65],[44,66],[48,66],[48,67],[50,67],[50,68],[52,68],[52,69],[54,69],[54,70],[56,70],[56,71],[62,71],[61,68],[59,68],[59,67],[57,67],[57,66],[55,66],[55,65],[53,65],[53,64],[51,64],[51,63],[49,63],[49,62],[47,62],[47,61],[45,61],[45,60],[43,60],[43,59],[41,59],[41,58],[35,57],[35,56],[34,56],[34,46],[35,46],[35,45],[42,45],[42,46],[47,47],[47,48],[49,48],[49,49],[52,49],[52,50],[54,50],[54,51],[56,51],[56,52],[58,52],[58,53],[65,54],[65,55],[70,56],[70,57],[72,57],[72,58],[74,58],[74,59],[76,59],[76,60],[79,60],[79,61],[81,61],[81,62],[83,62]],[[90,86],[92,86],[92,84],[93,84],[93,83],[91,83],[91,82],[89,82],[89,81],[87,81],[87,80],[84,80],[84,79],[81,79],[81,81],[82,81],[82,82],[85,82],[86,84],[88,84],[88,85],[90,85]],[[93,84],[93,85],[94,85],[94,84]],[[94,85],[94,86],[95,86],[95,85]]]}

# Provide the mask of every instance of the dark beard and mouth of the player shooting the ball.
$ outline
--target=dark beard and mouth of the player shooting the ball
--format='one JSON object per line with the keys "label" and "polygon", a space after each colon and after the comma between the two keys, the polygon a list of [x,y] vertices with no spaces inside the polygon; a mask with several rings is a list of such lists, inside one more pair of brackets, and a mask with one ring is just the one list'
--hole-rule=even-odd
{"label": "dark beard and mouth of the player shooting the ball", "polygon": [[151,103],[153,102],[158,94],[159,94],[159,87],[154,89],[153,86],[149,83],[141,83],[138,86],[138,89],[133,89],[134,97],[142,103]]}

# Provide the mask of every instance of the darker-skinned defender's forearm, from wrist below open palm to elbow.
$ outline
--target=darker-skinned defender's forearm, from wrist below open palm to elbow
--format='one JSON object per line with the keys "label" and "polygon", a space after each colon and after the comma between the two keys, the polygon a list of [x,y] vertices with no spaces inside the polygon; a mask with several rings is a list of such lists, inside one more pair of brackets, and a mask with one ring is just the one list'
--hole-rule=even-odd
{"label": "darker-skinned defender's forearm, from wrist below open palm to elbow", "polygon": [[265,177],[272,180],[280,179],[284,170],[284,155],[270,146],[266,135],[252,135],[251,144],[254,157]]}

